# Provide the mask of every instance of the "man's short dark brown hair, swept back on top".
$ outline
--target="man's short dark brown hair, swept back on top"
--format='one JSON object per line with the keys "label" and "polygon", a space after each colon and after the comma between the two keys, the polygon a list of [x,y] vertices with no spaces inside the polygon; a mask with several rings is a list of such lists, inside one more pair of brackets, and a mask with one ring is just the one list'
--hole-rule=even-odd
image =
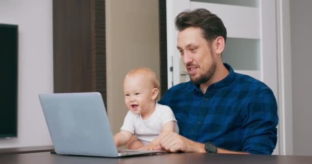
{"label": "man's short dark brown hair, swept back on top", "polygon": [[206,9],[195,9],[181,12],[175,17],[175,27],[183,31],[188,27],[200,27],[203,30],[204,38],[210,42],[218,36],[226,40],[226,28],[222,20]]}

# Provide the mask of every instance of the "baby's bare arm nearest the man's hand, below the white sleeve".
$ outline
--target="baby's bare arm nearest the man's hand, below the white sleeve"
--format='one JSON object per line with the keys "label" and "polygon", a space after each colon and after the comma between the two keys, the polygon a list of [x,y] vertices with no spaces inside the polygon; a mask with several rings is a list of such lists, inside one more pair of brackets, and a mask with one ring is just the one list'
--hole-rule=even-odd
{"label": "baby's bare arm nearest the man's hand, below the white sleeve", "polygon": [[153,148],[159,146],[160,140],[163,139],[170,132],[174,132],[174,121],[166,122],[162,127],[161,133],[154,140],[152,140],[148,145],[146,145],[145,147],[141,149],[153,150]]}

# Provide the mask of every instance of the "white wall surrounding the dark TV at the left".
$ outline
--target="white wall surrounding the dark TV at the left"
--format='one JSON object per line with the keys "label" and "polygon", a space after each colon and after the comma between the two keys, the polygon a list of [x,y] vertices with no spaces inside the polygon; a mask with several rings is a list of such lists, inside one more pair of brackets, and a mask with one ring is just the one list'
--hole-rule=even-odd
{"label": "white wall surrounding the dark TV at the left", "polygon": [[38,100],[53,92],[52,1],[0,1],[0,23],[18,25],[18,136],[0,148],[52,145]]}

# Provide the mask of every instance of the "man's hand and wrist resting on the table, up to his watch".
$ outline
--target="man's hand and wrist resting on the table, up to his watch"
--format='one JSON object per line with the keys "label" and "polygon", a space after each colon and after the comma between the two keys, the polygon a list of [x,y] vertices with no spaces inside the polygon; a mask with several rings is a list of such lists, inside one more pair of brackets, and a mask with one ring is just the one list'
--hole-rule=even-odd
{"label": "man's hand and wrist resting on the table, up to his watch", "polygon": [[177,133],[170,132],[160,141],[160,147],[153,150],[166,150],[168,152],[206,152],[205,145],[187,139]]}

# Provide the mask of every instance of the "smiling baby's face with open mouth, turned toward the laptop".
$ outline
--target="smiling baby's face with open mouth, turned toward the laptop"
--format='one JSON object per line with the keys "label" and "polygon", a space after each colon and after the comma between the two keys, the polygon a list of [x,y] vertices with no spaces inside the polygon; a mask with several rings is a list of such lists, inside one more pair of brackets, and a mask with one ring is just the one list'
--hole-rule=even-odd
{"label": "smiling baby's face with open mouth, turned toward the laptop", "polygon": [[142,77],[130,76],[124,80],[125,104],[134,114],[144,114],[155,105],[152,86]]}

